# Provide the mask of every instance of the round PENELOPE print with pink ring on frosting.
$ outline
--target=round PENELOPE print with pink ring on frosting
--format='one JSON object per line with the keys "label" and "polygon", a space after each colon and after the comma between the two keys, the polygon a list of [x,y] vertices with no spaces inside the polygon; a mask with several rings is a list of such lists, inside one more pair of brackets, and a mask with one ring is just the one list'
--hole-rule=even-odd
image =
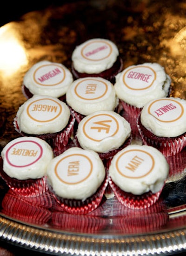
{"label": "round PENELOPE print with pink ring on frosting", "polygon": [[13,167],[26,167],[36,163],[43,154],[43,149],[38,142],[25,140],[15,142],[6,152],[8,164]]}

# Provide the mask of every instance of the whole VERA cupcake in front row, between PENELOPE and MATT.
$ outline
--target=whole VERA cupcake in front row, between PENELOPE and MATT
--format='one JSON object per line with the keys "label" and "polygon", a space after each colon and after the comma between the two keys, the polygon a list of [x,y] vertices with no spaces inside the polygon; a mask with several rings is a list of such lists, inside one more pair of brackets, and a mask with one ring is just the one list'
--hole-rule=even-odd
{"label": "whole VERA cupcake in front row, between PENELOPE and MATT", "polygon": [[101,203],[108,184],[99,155],[78,147],[53,158],[46,171],[49,190],[61,209],[86,214]]}

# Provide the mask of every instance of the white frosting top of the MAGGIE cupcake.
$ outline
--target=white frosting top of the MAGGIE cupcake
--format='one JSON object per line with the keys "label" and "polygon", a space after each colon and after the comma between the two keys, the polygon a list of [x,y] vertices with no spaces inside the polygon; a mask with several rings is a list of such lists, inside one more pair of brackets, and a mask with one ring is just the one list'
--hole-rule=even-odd
{"label": "white frosting top of the MAGGIE cupcake", "polygon": [[16,115],[20,132],[35,135],[59,132],[66,127],[69,118],[66,103],[40,95],[33,95],[23,103]]}

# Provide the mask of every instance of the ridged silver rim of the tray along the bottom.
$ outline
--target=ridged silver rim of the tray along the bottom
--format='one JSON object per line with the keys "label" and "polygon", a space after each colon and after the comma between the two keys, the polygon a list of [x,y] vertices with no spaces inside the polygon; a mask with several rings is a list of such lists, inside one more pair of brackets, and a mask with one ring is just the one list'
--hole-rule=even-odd
{"label": "ridged silver rim of the tray along the bottom", "polygon": [[53,255],[171,255],[186,251],[186,226],[141,235],[73,234],[21,223],[0,213],[0,239]]}

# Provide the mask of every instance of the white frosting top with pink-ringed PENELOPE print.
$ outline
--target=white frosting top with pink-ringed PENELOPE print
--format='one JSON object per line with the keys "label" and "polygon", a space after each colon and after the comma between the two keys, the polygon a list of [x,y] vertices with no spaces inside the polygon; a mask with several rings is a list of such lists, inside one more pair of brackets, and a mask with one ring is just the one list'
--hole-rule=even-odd
{"label": "white frosting top with pink-ringed PENELOPE print", "polygon": [[20,137],[9,142],[2,150],[3,170],[19,180],[42,178],[53,159],[53,150],[37,137]]}

